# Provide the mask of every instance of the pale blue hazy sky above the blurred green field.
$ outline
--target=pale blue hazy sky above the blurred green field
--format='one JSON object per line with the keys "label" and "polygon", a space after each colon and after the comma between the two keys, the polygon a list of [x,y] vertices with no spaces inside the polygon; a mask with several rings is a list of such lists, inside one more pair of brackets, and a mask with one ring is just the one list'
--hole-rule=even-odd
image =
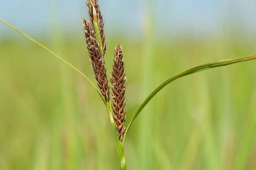
{"label": "pale blue hazy sky above the blurred green field", "polygon": [[[1,0],[0,18],[31,34],[81,29],[85,0]],[[256,30],[255,0],[99,0],[106,31],[140,35],[146,14],[161,33],[208,34],[238,27]],[[153,10],[147,5],[154,3]],[[54,23],[54,24],[53,24]],[[10,33],[0,23],[0,34]],[[255,31],[254,31],[255,32]]]}

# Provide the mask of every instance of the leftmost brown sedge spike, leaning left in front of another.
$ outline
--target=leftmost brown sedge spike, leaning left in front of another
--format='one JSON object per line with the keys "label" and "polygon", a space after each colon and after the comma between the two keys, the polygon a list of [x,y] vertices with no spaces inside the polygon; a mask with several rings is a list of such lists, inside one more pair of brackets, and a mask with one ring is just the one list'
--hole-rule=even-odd
{"label": "leftmost brown sedge spike, leaning left in front of another", "polygon": [[84,20],[84,33],[86,37],[87,49],[90,55],[90,61],[97,80],[100,92],[104,96],[106,102],[109,101],[108,78],[106,76],[106,67],[103,56],[100,52],[99,43],[96,39],[95,31],[90,21]]}

